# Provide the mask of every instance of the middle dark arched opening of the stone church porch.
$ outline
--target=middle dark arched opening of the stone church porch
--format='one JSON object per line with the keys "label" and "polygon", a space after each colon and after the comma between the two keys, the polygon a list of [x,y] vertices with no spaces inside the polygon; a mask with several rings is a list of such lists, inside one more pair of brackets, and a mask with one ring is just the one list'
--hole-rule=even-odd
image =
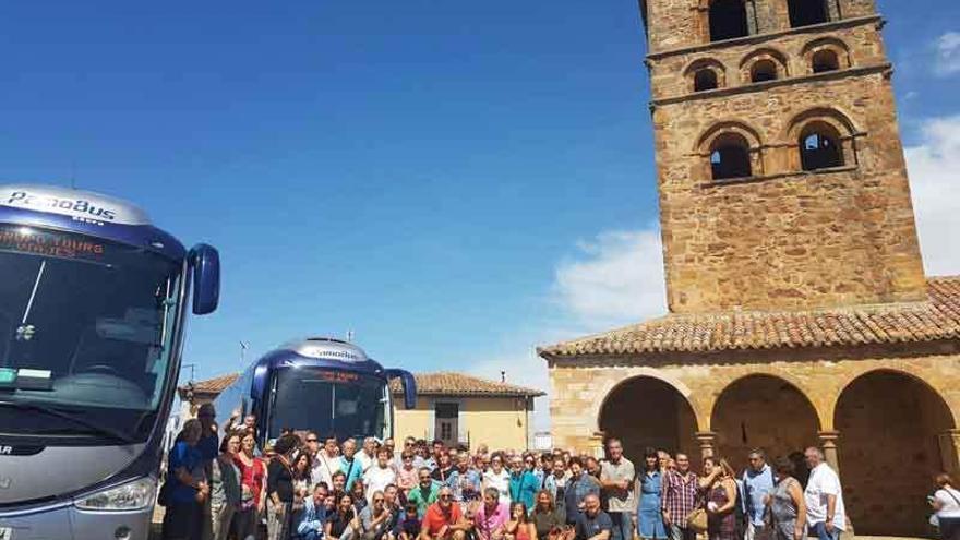
{"label": "middle dark arched opening of the stone church porch", "polygon": [[[769,460],[791,457],[817,442],[820,417],[801,386],[780,374],[751,373],[717,396],[710,429],[720,455],[737,470],[747,454],[763,448]],[[802,476],[802,473],[801,473]]]}

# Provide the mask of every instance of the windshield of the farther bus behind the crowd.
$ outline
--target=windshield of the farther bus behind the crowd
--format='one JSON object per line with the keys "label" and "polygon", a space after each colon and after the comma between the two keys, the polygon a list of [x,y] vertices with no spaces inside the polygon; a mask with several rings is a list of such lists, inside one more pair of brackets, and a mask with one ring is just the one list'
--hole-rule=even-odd
{"label": "windshield of the farther bus behind the crowd", "polygon": [[278,371],[274,384],[268,439],[278,437],[284,429],[339,440],[383,440],[389,432],[389,393],[381,377],[299,367]]}

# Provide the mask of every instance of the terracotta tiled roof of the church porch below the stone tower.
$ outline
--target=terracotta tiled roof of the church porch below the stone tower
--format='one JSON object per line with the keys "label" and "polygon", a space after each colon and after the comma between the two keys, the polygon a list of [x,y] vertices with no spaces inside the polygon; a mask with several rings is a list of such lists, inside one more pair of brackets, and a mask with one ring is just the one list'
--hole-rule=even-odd
{"label": "terracotta tiled roof of the church porch below the stone tower", "polygon": [[801,312],[670,314],[541,347],[544,358],[856,346],[960,337],[960,276],[927,280],[928,301]]}

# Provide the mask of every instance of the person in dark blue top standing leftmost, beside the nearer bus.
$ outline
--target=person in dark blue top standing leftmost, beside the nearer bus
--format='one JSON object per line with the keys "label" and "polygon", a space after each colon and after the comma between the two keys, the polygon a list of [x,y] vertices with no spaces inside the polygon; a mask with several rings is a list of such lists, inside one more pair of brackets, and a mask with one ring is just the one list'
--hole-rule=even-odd
{"label": "person in dark blue top standing leftmost, beside the nearer bus", "polygon": [[203,477],[203,456],[196,448],[200,435],[200,420],[188,420],[167,456],[167,482],[170,485],[164,514],[165,540],[201,539],[201,508],[209,488]]}

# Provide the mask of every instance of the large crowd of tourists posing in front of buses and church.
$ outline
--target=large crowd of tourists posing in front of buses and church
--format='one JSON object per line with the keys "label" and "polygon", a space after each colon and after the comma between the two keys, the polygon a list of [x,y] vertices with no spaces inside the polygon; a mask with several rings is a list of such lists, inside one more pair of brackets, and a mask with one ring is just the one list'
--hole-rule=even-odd
{"label": "large crowd of tourists posing in front of buses and church", "polygon": [[[720,457],[648,449],[640,467],[616,439],[607,458],[472,452],[406,439],[380,444],[285,432],[255,448],[255,419],[218,432],[211,406],[169,453],[165,539],[185,540],[839,540],[849,525],[836,472],[807,448],[794,461],[753,451],[741,475]],[[960,531],[949,477],[931,497],[944,538]]]}

